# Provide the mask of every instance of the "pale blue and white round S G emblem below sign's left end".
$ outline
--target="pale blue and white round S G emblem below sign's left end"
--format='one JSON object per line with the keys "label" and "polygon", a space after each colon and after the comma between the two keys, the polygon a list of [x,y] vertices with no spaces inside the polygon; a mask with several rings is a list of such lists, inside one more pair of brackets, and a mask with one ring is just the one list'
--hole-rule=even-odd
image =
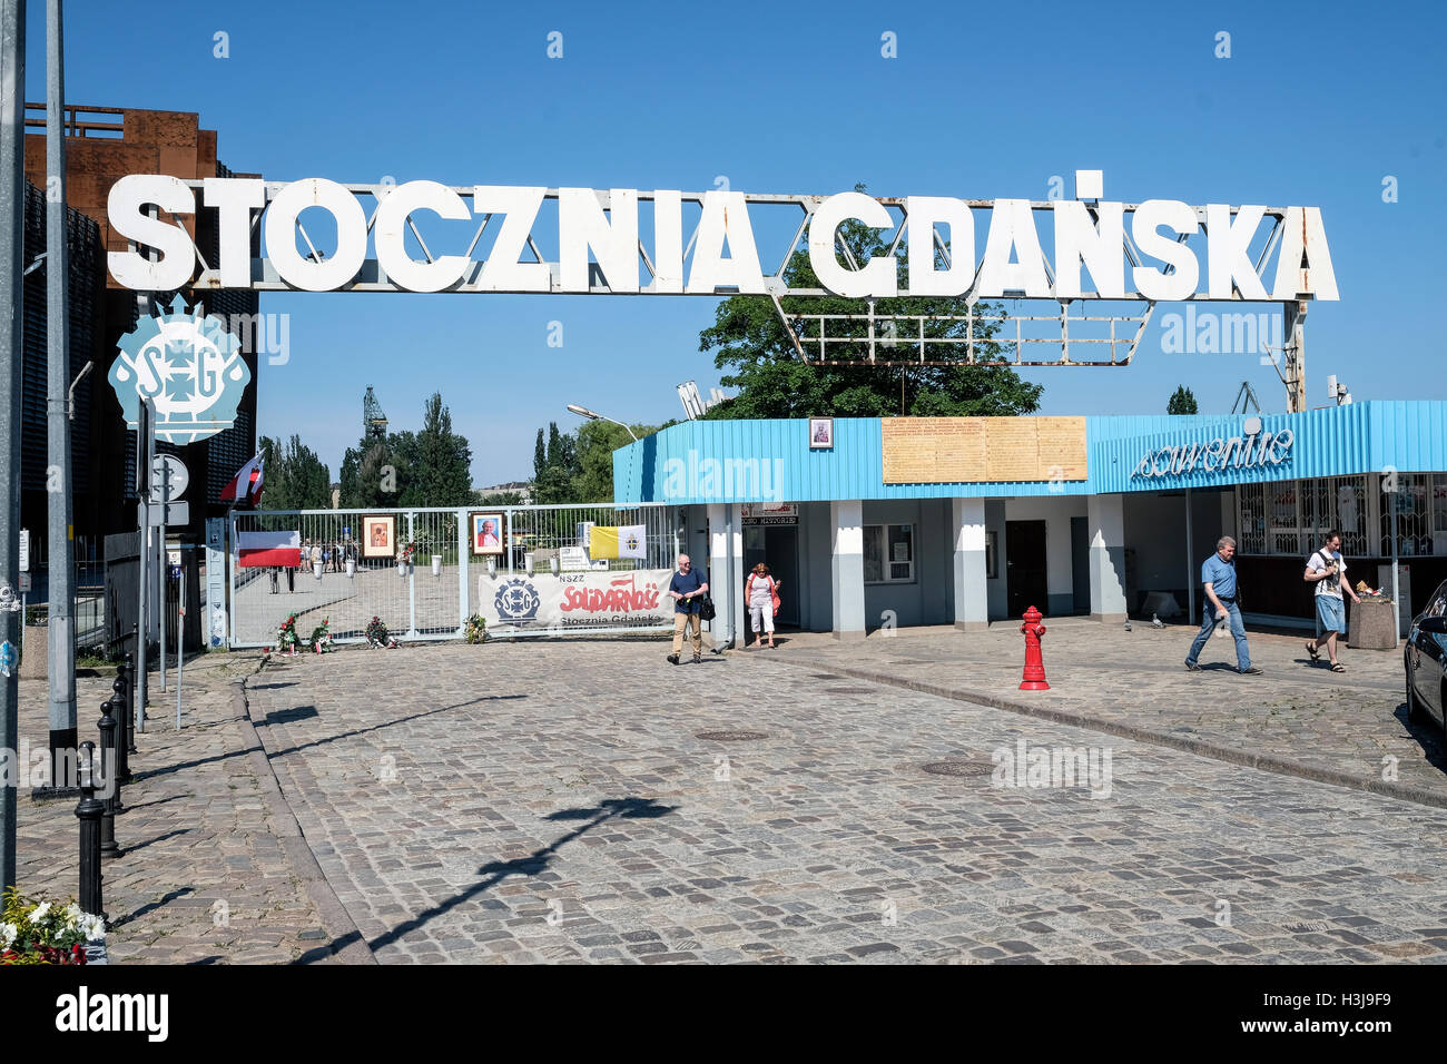
{"label": "pale blue and white round S G emblem below sign's left end", "polygon": [[169,310],[120,339],[110,387],[127,428],[136,427],[143,395],[156,407],[158,440],[195,443],[232,427],[252,371],[221,318],[200,307],[191,313],[181,297]]}

